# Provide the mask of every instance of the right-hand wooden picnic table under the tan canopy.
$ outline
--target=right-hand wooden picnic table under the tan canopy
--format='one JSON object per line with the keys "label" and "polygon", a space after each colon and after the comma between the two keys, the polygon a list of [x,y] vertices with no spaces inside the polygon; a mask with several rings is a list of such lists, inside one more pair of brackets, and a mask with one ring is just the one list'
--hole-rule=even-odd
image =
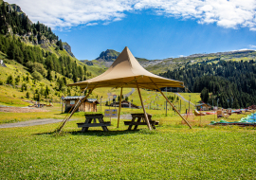
{"label": "right-hand wooden picnic table under the tan canopy", "polygon": [[[137,130],[138,125],[147,125],[144,113],[131,114],[131,115],[133,117],[131,121],[124,121],[124,125],[129,125],[128,130],[132,130],[133,126],[135,126],[134,130]],[[150,114],[147,114],[147,115],[149,117],[150,124],[152,125],[153,129],[155,129],[155,125],[158,125],[159,122],[152,120],[151,119],[152,115]]]}

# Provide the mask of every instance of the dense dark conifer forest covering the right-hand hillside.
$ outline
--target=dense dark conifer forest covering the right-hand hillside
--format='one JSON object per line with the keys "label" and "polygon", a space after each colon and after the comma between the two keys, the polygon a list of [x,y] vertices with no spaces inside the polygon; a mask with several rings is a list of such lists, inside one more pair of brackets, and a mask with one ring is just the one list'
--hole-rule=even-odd
{"label": "dense dark conifer forest covering the right-hand hillside", "polygon": [[256,63],[220,61],[186,64],[159,76],[184,81],[204,102],[224,108],[245,108],[256,102]]}

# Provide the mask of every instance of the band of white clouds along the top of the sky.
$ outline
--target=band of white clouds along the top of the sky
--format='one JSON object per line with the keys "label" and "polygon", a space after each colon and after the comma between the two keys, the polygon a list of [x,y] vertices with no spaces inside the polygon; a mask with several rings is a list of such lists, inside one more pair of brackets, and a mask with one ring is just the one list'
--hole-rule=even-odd
{"label": "band of white clouds along the top of the sky", "polygon": [[[49,27],[75,27],[120,21],[125,11],[153,9],[155,15],[196,19],[200,24],[256,30],[256,0],[7,0],[19,5],[31,21]],[[98,23],[100,24],[100,23]],[[96,25],[96,24],[95,24]]]}

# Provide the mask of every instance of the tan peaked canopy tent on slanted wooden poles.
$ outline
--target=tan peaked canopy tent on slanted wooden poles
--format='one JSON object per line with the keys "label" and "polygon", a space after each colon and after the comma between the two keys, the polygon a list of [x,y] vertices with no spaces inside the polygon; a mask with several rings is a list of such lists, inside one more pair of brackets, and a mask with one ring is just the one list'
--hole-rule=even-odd
{"label": "tan peaked canopy tent on slanted wooden poles", "polygon": [[[126,46],[122,52],[119,54],[117,60],[112,63],[107,71],[102,73],[100,76],[95,77],[93,79],[87,81],[80,81],[72,84],[68,84],[67,86],[80,86],[82,90],[91,89],[91,91],[84,97],[86,99],[89,94],[95,89],[100,87],[116,87],[121,88],[120,97],[122,96],[122,88],[137,88],[138,95],[141,101],[141,105],[144,111],[144,115],[146,118],[147,125],[151,130],[151,125],[149,123],[143,101],[140,95],[139,88],[151,89],[159,91],[162,96],[173,106],[174,110],[178,113],[180,117],[182,117],[179,112],[175,109],[173,103],[167,99],[164,94],[161,92],[160,88],[162,87],[181,87],[184,88],[184,83],[182,81],[174,81],[166,78],[162,78],[152,74],[151,72],[144,69],[133,56],[129,48]],[[83,99],[80,101],[82,102]],[[75,106],[74,110],[79,107],[79,103]],[[119,105],[120,112],[120,105]],[[59,130],[62,130],[64,123],[73,115],[67,118],[64,118],[63,125],[60,126]],[[182,117],[183,120],[191,127],[189,122]],[[119,127],[119,118],[118,118],[118,127]]]}

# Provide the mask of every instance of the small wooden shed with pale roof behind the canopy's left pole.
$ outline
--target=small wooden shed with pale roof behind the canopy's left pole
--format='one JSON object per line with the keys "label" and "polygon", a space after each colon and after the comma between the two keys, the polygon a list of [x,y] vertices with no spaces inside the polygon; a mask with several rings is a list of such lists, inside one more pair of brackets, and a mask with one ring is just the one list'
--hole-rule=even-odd
{"label": "small wooden shed with pale roof behind the canopy's left pole", "polygon": [[[77,97],[65,97],[64,98],[64,113],[68,113],[70,109],[76,104],[76,100],[84,98],[83,96]],[[97,112],[97,104],[100,104],[97,99],[86,99],[81,106],[78,108],[78,111],[82,112]]]}

